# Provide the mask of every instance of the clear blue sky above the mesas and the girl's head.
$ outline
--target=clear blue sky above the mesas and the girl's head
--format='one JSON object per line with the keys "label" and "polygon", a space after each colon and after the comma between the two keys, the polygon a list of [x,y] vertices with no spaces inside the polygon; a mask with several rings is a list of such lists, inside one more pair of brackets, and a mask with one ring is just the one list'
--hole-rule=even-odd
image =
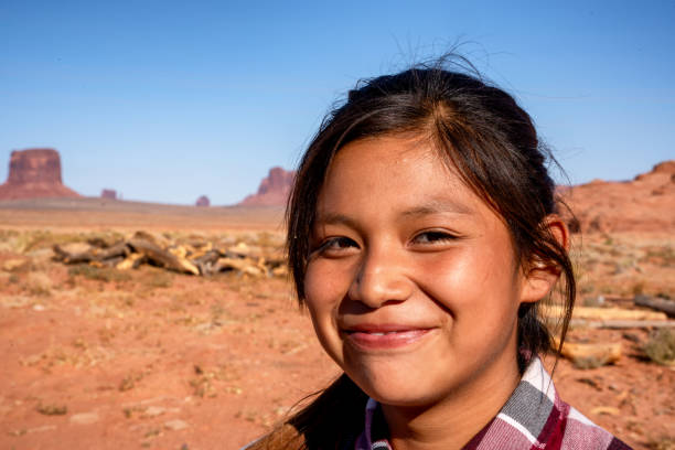
{"label": "clear blue sky above the mesas and the girl's head", "polygon": [[84,195],[232,204],[358,78],[458,40],[572,183],[675,158],[673,0],[0,0],[0,182],[51,147]]}

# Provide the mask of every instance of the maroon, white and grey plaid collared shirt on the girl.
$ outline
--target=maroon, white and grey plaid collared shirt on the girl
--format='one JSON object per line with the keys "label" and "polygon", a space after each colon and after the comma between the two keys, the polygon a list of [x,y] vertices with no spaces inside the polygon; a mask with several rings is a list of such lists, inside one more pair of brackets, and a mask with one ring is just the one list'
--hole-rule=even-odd
{"label": "maroon, white and grey plaid collared shirt on the girl", "polygon": [[[356,439],[355,450],[392,450],[386,439],[373,441],[373,418],[377,408],[377,401],[368,399],[365,429]],[[630,450],[631,448],[562,401],[542,361],[534,357],[500,414],[462,450],[494,449]]]}

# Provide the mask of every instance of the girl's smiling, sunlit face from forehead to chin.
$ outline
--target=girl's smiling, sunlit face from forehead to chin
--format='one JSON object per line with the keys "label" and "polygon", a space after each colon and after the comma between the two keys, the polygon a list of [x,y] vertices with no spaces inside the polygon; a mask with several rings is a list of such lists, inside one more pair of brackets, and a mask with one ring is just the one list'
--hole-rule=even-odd
{"label": "girl's smiling, sunlit face from forehead to chin", "polygon": [[311,248],[314,329],[371,397],[428,406],[515,387],[518,306],[540,293],[501,217],[428,143],[383,137],[342,148]]}

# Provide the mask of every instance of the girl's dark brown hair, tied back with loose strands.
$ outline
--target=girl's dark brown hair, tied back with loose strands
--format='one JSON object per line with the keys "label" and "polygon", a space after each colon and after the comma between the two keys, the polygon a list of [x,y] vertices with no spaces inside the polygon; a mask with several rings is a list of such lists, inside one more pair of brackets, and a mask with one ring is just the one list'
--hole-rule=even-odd
{"label": "girl's dark brown hair, tied back with loose strands", "polygon": [[[547,171],[547,163],[555,160],[511,95],[475,73],[449,69],[447,58],[360,82],[321,124],[300,162],[287,208],[289,267],[300,302],[317,201],[331,161],[349,142],[398,133],[429,139],[441,160],[503,218],[522,270],[544,264],[561,274],[559,292],[566,307],[561,345],[575,300],[575,278],[567,250],[546,225],[546,217],[556,212],[555,184]],[[538,302],[523,303],[518,311],[521,371],[528,355],[554,350],[537,309]],[[362,427],[366,399],[343,374],[276,435],[259,442],[268,447],[258,448],[340,448]],[[351,417],[357,420],[345,420]],[[294,430],[293,439],[282,438],[288,427]],[[274,436],[281,441],[272,443]]]}

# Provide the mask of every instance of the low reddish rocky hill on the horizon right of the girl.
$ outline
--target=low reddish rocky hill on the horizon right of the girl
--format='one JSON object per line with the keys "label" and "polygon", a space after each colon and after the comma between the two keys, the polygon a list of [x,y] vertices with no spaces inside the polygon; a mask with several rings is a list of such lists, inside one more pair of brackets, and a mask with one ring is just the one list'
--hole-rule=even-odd
{"label": "low reddish rocky hill on the horizon right of the girl", "polygon": [[560,192],[572,232],[675,232],[675,160],[631,181],[593,180]]}

